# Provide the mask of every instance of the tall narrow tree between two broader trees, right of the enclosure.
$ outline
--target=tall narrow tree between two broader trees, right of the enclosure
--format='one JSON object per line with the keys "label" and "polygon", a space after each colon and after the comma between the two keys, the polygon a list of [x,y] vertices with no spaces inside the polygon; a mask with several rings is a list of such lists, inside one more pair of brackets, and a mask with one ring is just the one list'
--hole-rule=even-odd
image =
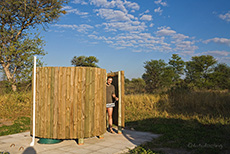
{"label": "tall narrow tree between two broader trees, right of the enclosure", "polygon": [[178,82],[180,76],[184,74],[185,62],[178,56],[178,54],[173,54],[172,59],[169,60],[169,65],[171,65],[175,74],[173,81]]}

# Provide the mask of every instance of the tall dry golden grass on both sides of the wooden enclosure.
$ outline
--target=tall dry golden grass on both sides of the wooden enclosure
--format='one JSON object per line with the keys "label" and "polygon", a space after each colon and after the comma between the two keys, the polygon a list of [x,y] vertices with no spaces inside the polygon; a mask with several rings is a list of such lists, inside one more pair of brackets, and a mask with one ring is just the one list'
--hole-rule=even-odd
{"label": "tall dry golden grass on both sides of the wooden enclosure", "polygon": [[[127,121],[155,117],[196,119],[202,123],[230,123],[228,91],[171,92],[169,94],[136,94],[125,96]],[[31,114],[32,93],[0,96],[0,119],[16,119]]]}

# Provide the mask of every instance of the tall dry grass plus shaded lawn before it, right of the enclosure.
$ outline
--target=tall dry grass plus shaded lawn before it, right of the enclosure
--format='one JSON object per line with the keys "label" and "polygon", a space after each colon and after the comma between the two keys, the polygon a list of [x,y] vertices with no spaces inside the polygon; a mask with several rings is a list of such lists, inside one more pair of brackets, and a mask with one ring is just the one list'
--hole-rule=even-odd
{"label": "tall dry grass plus shaded lawn before it, right of the enclosure", "polygon": [[227,91],[126,95],[126,126],[162,134],[130,153],[230,153],[229,100]]}

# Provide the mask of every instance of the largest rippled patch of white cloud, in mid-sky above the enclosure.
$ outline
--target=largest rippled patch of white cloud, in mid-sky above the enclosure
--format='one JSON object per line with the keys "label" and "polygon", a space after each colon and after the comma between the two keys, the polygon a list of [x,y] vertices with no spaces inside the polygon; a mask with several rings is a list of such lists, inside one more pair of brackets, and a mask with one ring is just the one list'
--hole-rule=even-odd
{"label": "largest rippled patch of white cloud, in mid-sky above the enclosure", "polygon": [[[82,4],[84,0],[75,0]],[[162,13],[162,6],[167,6],[162,0],[155,0],[160,5],[154,12]],[[198,48],[195,41],[189,36],[179,34],[170,27],[159,27],[155,33],[148,33],[148,27],[154,23],[150,11],[146,9],[143,13],[136,15],[133,12],[140,9],[137,3],[127,0],[89,0],[88,4],[94,7],[94,12],[102,19],[98,20],[94,27],[88,24],[82,25],[54,25],[59,28],[69,28],[77,32],[86,33],[91,40],[103,41],[115,49],[131,49],[134,52],[162,51],[194,53]],[[69,13],[88,15],[87,12],[79,11],[71,7],[65,8]],[[149,22],[150,21],[150,22]],[[148,26],[147,26],[147,25]],[[153,30],[153,28],[151,28]],[[102,32],[101,32],[102,31]]]}

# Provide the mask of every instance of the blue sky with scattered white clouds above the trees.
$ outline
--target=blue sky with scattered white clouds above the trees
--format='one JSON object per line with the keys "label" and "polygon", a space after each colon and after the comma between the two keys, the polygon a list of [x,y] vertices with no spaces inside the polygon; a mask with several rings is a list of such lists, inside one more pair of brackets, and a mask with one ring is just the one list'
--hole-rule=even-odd
{"label": "blue sky with scattered white clouds above the trees", "polygon": [[141,77],[144,62],[179,54],[212,55],[230,64],[229,0],[70,0],[67,14],[41,35],[46,66],[95,56],[107,72]]}

